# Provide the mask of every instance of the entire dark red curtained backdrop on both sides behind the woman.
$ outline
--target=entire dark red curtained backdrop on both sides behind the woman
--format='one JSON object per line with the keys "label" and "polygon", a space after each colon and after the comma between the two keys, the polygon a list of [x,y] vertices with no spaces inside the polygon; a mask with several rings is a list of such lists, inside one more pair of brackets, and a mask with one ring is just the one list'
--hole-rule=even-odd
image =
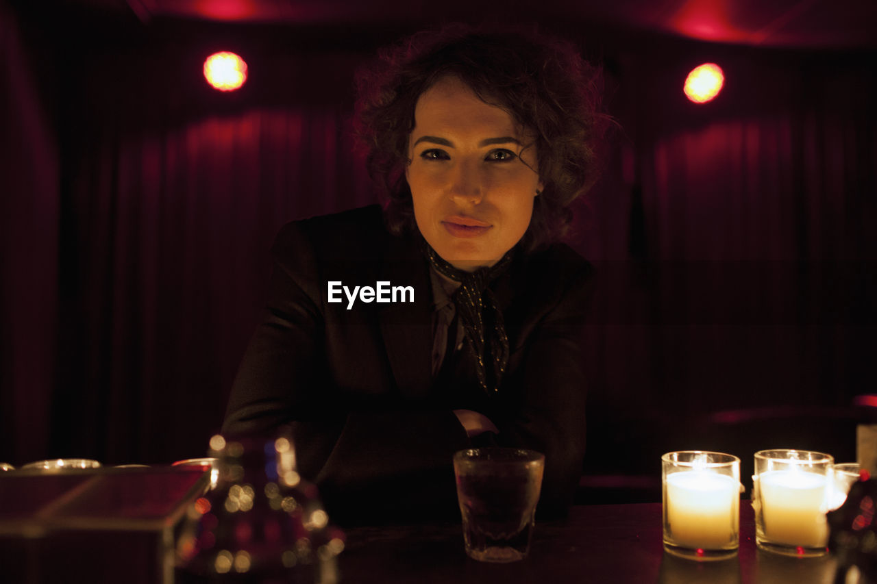
{"label": "entire dark red curtained backdrop on both sides behind the woman", "polygon": [[[63,6],[0,2],[0,459],[200,456],[277,229],[377,201],[353,72],[440,19],[144,24]],[[660,472],[679,448],[854,457],[853,398],[877,379],[873,47],[507,19],[602,63],[617,122],[570,239],[600,274],[588,473]],[[221,49],[249,62],[239,92],[200,75]],[[695,105],[681,82],[704,61],[728,82]]]}

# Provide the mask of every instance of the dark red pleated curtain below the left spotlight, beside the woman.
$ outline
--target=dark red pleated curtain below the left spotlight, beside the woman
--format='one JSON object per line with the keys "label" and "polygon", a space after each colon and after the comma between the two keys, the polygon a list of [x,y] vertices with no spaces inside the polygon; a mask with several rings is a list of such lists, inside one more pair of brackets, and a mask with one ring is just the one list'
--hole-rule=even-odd
{"label": "dark red pleated curtain below the left spotlight, beside the woman", "polygon": [[246,110],[104,138],[79,160],[59,442],[77,436],[119,462],[203,455],[260,316],[276,231],[374,203],[346,117]]}

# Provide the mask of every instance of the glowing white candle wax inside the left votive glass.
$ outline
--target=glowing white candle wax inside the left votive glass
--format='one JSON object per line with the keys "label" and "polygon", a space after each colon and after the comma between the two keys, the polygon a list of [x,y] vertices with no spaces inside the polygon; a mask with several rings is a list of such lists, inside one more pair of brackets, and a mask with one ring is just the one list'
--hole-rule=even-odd
{"label": "glowing white candle wax inside the left votive glass", "polygon": [[675,545],[719,549],[738,538],[740,487],[705,470],[667,474],[667,523]]}

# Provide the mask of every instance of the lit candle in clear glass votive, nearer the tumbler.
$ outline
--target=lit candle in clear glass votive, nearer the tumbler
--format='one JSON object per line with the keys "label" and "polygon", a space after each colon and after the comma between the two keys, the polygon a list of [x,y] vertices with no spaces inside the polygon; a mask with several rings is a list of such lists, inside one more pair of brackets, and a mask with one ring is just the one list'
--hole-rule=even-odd
{"label": "lit candle in clear glass votive, nearer the tumbler", "polygon": [[740,459],[723,452],[667,452],[661,485],[667,552],[697,560],[737,554]]}

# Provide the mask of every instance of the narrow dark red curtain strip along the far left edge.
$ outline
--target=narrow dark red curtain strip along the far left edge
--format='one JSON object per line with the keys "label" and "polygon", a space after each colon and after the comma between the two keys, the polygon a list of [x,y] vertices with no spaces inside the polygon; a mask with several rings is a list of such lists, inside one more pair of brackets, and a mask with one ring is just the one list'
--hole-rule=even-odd
{"label": "narrow dark red curtain strip along the far left edge", "polygon": [[58,306],[58,153],[35,60],[0,4],[0,459],[48,449]]}

